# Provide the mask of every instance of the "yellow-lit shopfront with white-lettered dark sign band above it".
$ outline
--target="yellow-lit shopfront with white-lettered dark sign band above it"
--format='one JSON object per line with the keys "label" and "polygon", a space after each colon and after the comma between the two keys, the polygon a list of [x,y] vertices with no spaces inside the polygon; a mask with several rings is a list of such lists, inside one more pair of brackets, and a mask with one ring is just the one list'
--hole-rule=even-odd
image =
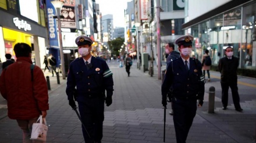
{"label": "yellow-lit shopfront with white-lettered dark sign band above it", "polygon": [[12,54],[16,43],[29,44],[33,50],[33,63],[42,67],[46,55],[47,29],[35,21],[0,10],[0,58],[5,61],[5,54]]}

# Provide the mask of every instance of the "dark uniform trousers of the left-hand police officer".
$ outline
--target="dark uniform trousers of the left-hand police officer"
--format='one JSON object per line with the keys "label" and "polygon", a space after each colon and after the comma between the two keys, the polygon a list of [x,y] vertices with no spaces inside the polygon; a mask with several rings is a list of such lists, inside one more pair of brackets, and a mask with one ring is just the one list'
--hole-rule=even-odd
{"label": "dark uniform trousers of the left-hand police officer", "polygon": [[104,98],[88,98],[86,101],[78,102],[81,120],[91,137],[88,137],[82,125],[84,141],[86,143],[101,142],[103,136],[104,102]]}

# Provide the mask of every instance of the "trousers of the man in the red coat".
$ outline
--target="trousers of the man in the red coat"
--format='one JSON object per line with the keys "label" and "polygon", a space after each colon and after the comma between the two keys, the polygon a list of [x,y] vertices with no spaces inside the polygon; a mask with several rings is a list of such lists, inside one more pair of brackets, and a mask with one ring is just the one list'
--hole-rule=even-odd
{"label": "trousers of the man in the red coat", "polygon": [[23,131],[23,143],[35,143],[35,142],[45,142],[45,141],[36,141],[36,140],[30,140],[31,132],[32,132],[32,126],[33,123],[37,122],[37,118],[33,118],[30,120],[17,120],[17,123],[19,124],[20,129]]}

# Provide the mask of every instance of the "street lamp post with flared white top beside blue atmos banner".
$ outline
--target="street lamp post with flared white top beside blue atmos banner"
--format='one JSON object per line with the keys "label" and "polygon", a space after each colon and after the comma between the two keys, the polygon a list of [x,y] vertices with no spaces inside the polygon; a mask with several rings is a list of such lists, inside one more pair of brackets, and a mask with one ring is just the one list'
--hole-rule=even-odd
{"label": "street lamp post with flared white top beside blue atmos banner", "polygon": [[61,35],[61,8],[63,6],[63,2],[59,0],[51,1],[52,5],[54,5],[54,8],[57,12],[57,19],[58,19],[58,33],[59,33],[59,50],[61,52],[61,71],[62,71],[62,79],[66,79],[65,74],[65,61],[64,61],[64,53],[63,53],[63,47],[62,47],[62,35]]}

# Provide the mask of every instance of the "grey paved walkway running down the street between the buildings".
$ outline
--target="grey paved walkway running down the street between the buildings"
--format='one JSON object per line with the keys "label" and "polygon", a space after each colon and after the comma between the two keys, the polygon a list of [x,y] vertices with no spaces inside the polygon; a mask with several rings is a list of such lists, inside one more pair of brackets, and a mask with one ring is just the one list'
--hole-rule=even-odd
{"label": "grey paved walkway running down the street between the buildings", "polygon": [[[163,142],[162,81],[157,79],[157,67],[154,67],[154,75],[150,77],[148,71],[137,69],[136,61],[133,63],[130,77],[116,61],[108,63],[113,72],[115,91],[113,104],[105,107],[102,142]],[[52,90],[49,91],[47,142],[84,142],[81,123],[67,102],[66,80],[61,78],[61,85],[57,85],[55,77],[49,76]],[[211,71],[211,77],[211,82],[205,84],[205,102],[197,110],[187,143],[255,142],[256,79],[239,77],[241,107],[244,109],[240,113],[234,110],[231,96],[227,110],[221,109],[220,75]],[[208,113],[208,89],[211,86],[216,90],[215,113]],[[2,102],[0,97],[0,104]],[[174,143],[175,129],[169,111],[166,111],[165,142]],[[16,121],[8,117],[0,119],[0,143],[3,142],[22,142],[22,132]]]}

